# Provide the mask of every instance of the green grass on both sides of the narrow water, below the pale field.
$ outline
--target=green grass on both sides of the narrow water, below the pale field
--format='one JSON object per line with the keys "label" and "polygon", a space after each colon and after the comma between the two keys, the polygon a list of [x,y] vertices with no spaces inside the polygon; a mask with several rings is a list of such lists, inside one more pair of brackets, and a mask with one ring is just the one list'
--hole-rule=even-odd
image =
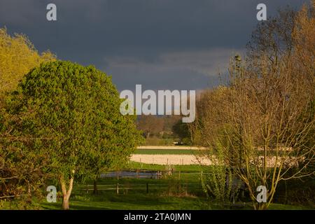
{"label": "green grass on both sides of the narrow water, below the pale field", "polygon": [[[130,162],[129,169],[165,171],[162,165],[144,165]],[[200,185],[201,167],[197,165],[175,166],[180,176],[173,174],[162,179],[106,178],[97,182],[98,193],[92,193],[92,181],[76,184],[70,200],[71,209],[252,209],[247,202],[244,207],[220,207],[216,202],[209,202]],[[87,190],[87,184],[88,190]],[[119,190],[117,193],[117,184]],[[61,199],[57,203],[45,200],[38,202],[40,209],[61,209]],[[301,210],[310,207],[272,204],[269,209]]]}

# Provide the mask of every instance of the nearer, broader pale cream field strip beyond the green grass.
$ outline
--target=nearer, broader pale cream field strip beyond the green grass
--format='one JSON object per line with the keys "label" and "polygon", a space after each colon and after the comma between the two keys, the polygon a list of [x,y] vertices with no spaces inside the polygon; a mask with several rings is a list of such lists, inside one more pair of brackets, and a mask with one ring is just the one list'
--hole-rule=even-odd
{"label": "nearer, broader pale cream field strip beyond the green grass", "polygon": [[[195,155],[175,155],[175,154],[133,154],[130,158],[132,162],[142,162],[145,164],[152,164],[152,165],[218,165],[218,162],[215,161],[213,158],[209,160],[209,158],[204,158],[198,156],[196,158]],[[296,158],[289,158],[289,157],[282,157],[278,158],[276,162],[276,156],[268,157],[267,160],[267,167],[274,167],[276,164],[279,166],[281,164],[281,160],[283,163],[293,167],[298,164]],[[263,157],[258,157],[258,160],[255,164],[262,166],[263,164]]]}

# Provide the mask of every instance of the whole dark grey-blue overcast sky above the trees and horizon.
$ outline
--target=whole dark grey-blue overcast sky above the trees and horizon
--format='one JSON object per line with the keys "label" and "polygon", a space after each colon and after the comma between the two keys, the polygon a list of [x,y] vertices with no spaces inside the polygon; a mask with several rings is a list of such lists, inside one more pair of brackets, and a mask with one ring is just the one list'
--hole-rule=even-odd
{"label": "whole dark grey-blue overcast sky above the trees and horizon", "polygon": [[[39,51],[94,64],[118,90],[201,90],[218,84],[229,57],[244,52],[267,15],[304,0],[0,0],[0,27],[23,33]],[[48,3],[57,21],[46,20]]]}

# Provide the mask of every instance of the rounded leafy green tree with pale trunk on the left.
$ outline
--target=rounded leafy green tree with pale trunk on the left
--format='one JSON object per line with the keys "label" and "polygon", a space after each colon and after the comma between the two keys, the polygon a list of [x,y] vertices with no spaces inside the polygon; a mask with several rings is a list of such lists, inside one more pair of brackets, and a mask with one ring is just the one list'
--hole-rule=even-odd
{"label": "rounded leafy green tree with pale trunk on the left", "polygon": [[48,155],[45,172],[59,181],[63,209],[76,177],[122,165],[141,139],[135,116],[120,114],[121,102],[105,73],[60,61],[32,69],[8,97],[8,114],[18,119],[11,133],[32,139],[25,152]]}

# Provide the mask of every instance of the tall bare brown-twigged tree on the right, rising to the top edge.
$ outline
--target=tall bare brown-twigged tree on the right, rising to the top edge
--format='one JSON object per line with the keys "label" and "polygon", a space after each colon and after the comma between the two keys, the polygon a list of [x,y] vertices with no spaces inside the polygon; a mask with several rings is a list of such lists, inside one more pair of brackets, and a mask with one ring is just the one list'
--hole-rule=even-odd
{"label": "tall bare brown-twigged tree on the right, rising to the top edge", "polygon": [[[230,85],[208,93],[198,112],[197,136],[212,155],[224,148],[255,209],[272,203],[280,181],[314,175],[314,2],[256,31],[251,57],[231,60]],[[265,203],[256,202],[258,186]]]}

